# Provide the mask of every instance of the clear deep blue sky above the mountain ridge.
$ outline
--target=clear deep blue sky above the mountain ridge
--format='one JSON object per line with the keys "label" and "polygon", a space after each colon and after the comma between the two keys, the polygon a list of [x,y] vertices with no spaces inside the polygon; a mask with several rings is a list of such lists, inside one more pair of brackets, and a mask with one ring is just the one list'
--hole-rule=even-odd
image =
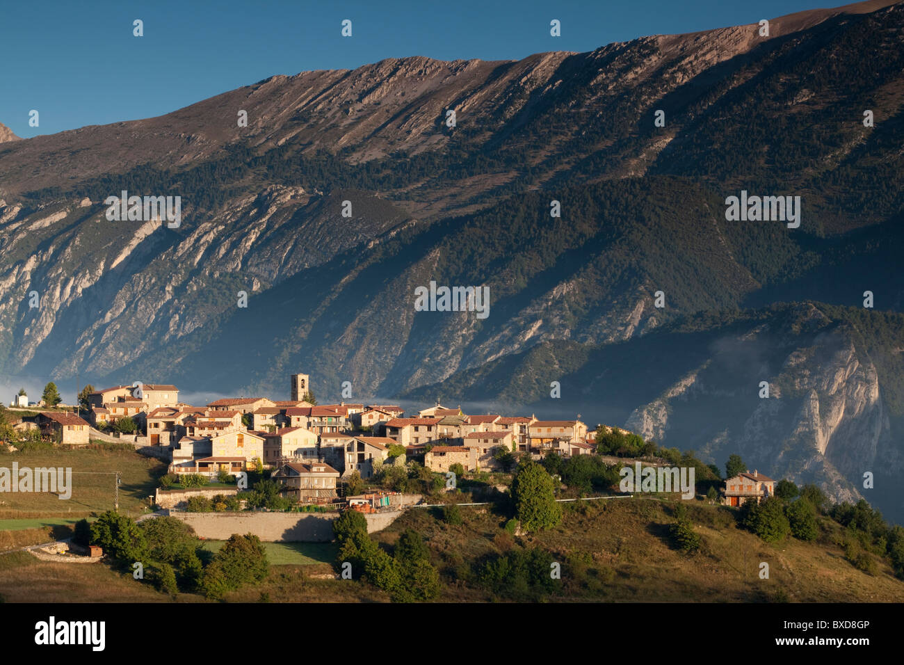
{"label": "clear deep blue sky above the mountain ridge", "polygon": [[[0,122],[20,137],[150,118],[273,74],[383,58],[517,60],[792,14],[832,0],[9,2]],[[839,2],[838,4],[843,4]],[[144,36],[132,22],[144,21]],[[352,37],[341,22],[353,22]],[[551,19],[561,36],[550,35]],[[37,109],[40,126],[29,127]]]}

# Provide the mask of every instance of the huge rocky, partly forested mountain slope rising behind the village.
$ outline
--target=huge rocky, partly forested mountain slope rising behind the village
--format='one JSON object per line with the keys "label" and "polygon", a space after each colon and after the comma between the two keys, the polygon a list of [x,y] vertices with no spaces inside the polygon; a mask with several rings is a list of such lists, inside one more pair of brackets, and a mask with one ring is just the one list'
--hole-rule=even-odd
{"label": "huge rocky, partly forested mountain slope rising behind the village", "polygon": [[[811,338],[769,305],[807,300],[834,320],[825,303],[860,308],[871,290],[875,309],[900,309],[904,6],[758,27],[302,72],[160,118],[6,141],[0,375],[282,394],[303,370],[331,398],[351,381],[356,399],[454,389],[526,408],[602,354],[610,366],[580,374],[588,420],[714,460],[747,451],[777,474],[805,463],[854,496],[858,464],[899,450],[898,379],[864,359],[871,319]],[[801,196],[800,227],[727,221],[742,189]],[[108,222],[104,201],[123,190],[180,196],[180,225]],[[431,280],[488,286],[490,315],[415,311]],[[744,308],[766,312],[750,345],[785,331],[756,373],[778,386],[769,402],[741,399],[757,376],[733,351],[698,357],[694,335],[673,332]],[[619,366],[605,349],[661,340],[699,363],[632,356],[644,389],[619,379],[590,399]],[[492,381],[478,390],[478,376]]]}

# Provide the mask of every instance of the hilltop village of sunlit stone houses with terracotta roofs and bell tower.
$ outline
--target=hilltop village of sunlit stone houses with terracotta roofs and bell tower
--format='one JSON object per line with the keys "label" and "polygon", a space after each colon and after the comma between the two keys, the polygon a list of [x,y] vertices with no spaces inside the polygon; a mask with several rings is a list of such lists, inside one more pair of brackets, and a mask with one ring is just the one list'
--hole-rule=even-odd
{"label": "hilltop village of sunlit stone houses with terracotta roofs and bell tower", "polygon": [[[602,425],[588,431],[578,419],[467,414],[442,404],[410,417],[393,404],[316,404],[305,374],[291,375],[290,394],[282,401],[228,397],[193,406],[179,400],[175,385],[116,385],[87,395],[87,420],[42,411],[17,427],[40,430],[63,445],[134,442],[165,460],[174,479],[268,470],[289,498],[318,503],[336,499],[342,480],[371,480],[387,463],[413,459],[434,473],[507,471],[525,455],[541,460],[554,453],[564,460],[594,454],[600,430],[630,434]],[[124,437],[123,423],[134,433]],[[105,433],[112,430],[117,437]],[[759,502],[774,491],[774,480],[748,470],[726,480],[721,502]]]}

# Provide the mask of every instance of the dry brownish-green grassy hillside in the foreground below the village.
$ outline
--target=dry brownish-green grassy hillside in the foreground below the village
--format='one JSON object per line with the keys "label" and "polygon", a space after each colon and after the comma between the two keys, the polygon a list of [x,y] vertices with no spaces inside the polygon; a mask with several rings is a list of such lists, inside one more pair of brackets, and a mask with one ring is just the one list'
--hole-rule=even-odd
{"label": "dry brownish-green grassy hillside in the foreground below the village", "polygon": [[[799,603],[904,601],[904,583],[891,575],[887,565],[880,563],[879,574],[871,576],[844,559],[836,544],[840,528],[830,520],[823,520],[823,534],[814,543],[788,539],[771,546],[735,527],[730,509],[694,502],[692,520],[703,537],[703,548],[695,556],[686,556],[669,544],[672,509],[673,504],[656,499],[567,504],[560,527],[526,537],[506,534],[504,516],[487,508],[462,508],[465,524],[461,527],[448,526],[431,511],[416,509],[377,538],[391,545],[405,528],[428,538],[444,583],[439,600],[446,602],[496,600],[463,579],[467,567],[463,563],[473,570],[482,556],[513,546],[540,546],[562,563],[561,591],[551,596],[552,601],[769,602],[783,594]],[[268,545],[271,562],[286,563],[274,565],[263,584],[234,592],[228,600],[256,602],[261,594],[283,603],[389,600],[366,583],[313,577],[333,572],[327,563],[316,563],[331,558],[332,546],[310,547]],[[567,563],[576,552],[592,557],[580,578],[570,574]],[[767,580],[758,576],[764,561],[769,564]],[[166,600],[106,565],[51,564],[25,553],[0,556],[0,596],[11,602]],[[178,600],[201,599],[180,594]]]}

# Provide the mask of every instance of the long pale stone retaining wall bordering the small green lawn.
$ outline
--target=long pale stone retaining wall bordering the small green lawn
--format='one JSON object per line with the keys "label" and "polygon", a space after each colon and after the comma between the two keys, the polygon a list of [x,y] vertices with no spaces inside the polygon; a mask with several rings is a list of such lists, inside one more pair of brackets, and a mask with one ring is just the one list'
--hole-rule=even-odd
{"label": "long pale stone retaining wall bordering the small green lawn", "polygon": [[[389,527],[403,511],[365,515],[369,533]],[[268,542],[328,543],[333,540],[336,513],[184,513],[170,515],[193,527],[195,534],[226,540],[232,534],[254,534]]]}

